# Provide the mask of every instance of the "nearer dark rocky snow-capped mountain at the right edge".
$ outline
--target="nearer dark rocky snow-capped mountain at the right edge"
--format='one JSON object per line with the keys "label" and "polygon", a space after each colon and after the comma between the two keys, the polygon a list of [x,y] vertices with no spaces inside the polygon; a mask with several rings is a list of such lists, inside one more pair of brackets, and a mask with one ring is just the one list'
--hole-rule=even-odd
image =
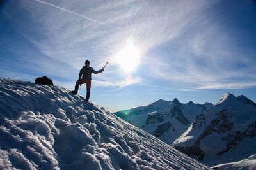
{"label": "nearer dark rocky snow-capped mountain at the right edge", "polygon": [[173,146],[208,166],[236,162],[256,153],[256,104],[224,94],[196,117]]}

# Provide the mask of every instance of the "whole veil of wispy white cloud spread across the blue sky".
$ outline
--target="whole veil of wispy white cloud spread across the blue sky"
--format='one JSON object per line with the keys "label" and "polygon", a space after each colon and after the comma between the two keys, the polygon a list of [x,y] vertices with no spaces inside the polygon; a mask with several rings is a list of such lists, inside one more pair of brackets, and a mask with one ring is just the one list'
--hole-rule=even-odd
{"label": "whole veil of wispy white cloud spread across the blue sky", "polygon": [[[58,1],[53,4],[34,0],[20,3],[32,22],[13,25],[44,55],[54,59],[54,63],[63,62],[69,69],[79,71],[86,59],[90,59],[96,69],[101,68],[132,36],[134,45],[140,48],[143,66],[150,73],[149,79],[188,83],[191,90],[254,86],[253,75],[245,78],[247,83],[236,83],[244,74],[255,73],[255,67],[252,57],[243,57],[227,30],[207,13],[218,1]],[[10,18],[14,15],[13,11],[5,12]],[[40,23],[40,28],[33,23]],[[43,38],[31,34],[35,30],[42,32],[38,34]],[[157,52],[158,47],[164,48],[163,52],[148,55],[148,52]],[[52,61],[42,67],[47,70],[51,66],[52,72],[64,75],[65,69],[54,68]],[[234,65],[241,67],[237,70]],[[105,82],[95,78],[97,85],[125,87],[144,81],[136,76],[125,80],[115,66],[107,69]],[[76,79],[72,77],[75,73],[65,76]]]}

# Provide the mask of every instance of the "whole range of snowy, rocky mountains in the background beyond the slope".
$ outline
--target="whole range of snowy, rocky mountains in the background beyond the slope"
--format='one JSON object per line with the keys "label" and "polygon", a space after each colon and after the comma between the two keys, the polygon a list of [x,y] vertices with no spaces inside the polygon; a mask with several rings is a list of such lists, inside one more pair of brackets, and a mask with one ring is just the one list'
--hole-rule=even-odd
{"label": "whole range of snowy, rocky mountains in the background beyond the slope", "polygon": [[115,113],[207,166],[256,153],[256,104],[224,94],[218,103],[159,100]]}

